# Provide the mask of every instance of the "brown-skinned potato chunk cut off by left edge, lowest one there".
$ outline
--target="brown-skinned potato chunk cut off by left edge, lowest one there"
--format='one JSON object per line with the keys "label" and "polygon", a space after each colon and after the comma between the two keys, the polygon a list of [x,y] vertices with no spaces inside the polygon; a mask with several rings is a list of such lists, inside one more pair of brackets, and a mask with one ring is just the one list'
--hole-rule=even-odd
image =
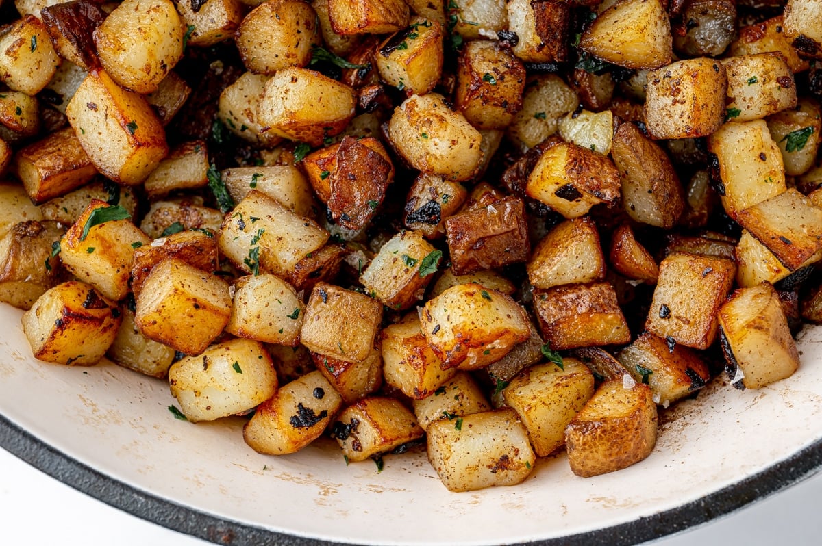
{"label": "brown-skinned potato chunk cut off by left edge, lowest one there", "polygon": [[58,284],[62,268],[52,245],[62,232],[56,223],[27,220],[0,237],[0,301],[29,309]]}

